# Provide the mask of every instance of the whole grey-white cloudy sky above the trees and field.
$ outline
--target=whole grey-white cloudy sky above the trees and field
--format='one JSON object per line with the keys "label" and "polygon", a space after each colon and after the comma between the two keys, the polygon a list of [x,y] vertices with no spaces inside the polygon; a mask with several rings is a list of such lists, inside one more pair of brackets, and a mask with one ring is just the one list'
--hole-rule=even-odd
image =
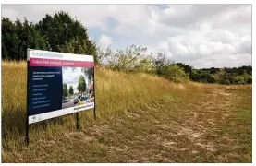
{"label": "whole grey-white cloudy sky above the trees and field", "polygon": [[2,5],[2,17],[38,22],[60,10],[103,48],[143,45],[196,68],[251,65],[250,5]]}

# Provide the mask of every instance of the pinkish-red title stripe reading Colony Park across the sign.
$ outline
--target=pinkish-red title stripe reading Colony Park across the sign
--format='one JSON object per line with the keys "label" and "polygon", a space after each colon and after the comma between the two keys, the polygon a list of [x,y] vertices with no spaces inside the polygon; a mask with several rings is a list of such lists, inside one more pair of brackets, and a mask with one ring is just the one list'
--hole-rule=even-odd
{"label": "pinkish-red title stripe reading Colony Park across the sign", "polygon": [[69,61],[59,59],[30,58],[30,66],[68,66],[68,67],[93,67],[94,62]]}

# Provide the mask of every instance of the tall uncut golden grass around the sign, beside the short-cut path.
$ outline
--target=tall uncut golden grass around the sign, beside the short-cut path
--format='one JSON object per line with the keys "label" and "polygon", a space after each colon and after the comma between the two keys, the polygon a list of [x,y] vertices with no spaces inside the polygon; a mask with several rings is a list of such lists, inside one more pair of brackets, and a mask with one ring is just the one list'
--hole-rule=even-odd
{"label": "tall uncut golden grass around the sign, beside the short-cut path", "polygon": [[[27,64],[2,62],[2,141],[4,148],[18,148],[24,143],[26,124]],[[190,88],[189,88],[190,86]],[[128,109],[172,98],[194,85],[176,85],[163,77],[128,74],[103,67],[95,70],[97,120],[124,113]],[[92,111],[79,113],[80,124],[93,121]],[[75,130],[73,114],[30,125],[30,138],[61,135]]]}

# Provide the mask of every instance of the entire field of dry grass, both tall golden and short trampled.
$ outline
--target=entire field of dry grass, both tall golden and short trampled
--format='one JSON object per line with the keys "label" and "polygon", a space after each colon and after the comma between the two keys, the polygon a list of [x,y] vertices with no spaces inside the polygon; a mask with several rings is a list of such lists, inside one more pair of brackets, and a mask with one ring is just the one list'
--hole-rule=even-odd
{"label": "entire field of dry grass, both tall golden and short trampled", "polygon": [[30,125],[26,63],[2,62],[2,162],[251,162],[251,85],[174,84],[96,68],[92,112]]}

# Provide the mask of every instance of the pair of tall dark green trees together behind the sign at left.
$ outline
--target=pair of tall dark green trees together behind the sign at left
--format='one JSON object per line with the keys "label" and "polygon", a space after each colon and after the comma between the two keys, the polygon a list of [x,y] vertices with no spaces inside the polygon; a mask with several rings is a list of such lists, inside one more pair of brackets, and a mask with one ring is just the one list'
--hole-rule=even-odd
{"label": "pair of tall dark green trees together behind the sign at left", "polygon": [[2,58],[22,60],[27,48],[61,53],[96,55],[96,43],[89,40],[87,29],[67,12],[46,15],[38,23],[2,18]]}

